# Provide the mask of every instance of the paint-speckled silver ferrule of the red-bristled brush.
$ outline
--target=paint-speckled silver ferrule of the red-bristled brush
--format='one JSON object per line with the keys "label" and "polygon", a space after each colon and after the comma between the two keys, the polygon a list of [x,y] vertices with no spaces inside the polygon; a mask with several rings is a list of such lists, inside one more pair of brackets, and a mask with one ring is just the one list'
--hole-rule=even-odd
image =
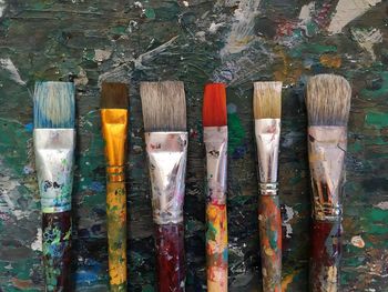
{"label": "paint-speckled silver ferrule of the red-bristled brush", "polygon": [[226,203],[227,127],[204,127],[207,201]]}

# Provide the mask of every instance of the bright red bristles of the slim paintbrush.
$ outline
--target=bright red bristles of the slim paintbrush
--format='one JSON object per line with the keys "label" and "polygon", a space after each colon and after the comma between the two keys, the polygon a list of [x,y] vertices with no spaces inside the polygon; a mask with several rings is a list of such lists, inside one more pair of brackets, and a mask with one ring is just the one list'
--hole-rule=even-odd
{"label": "bright red bristles of the slim paintbrush", "polygon": [[204,127],[223,127],[227,124],[225,84],[210,83],[205,85],[202,114]]}

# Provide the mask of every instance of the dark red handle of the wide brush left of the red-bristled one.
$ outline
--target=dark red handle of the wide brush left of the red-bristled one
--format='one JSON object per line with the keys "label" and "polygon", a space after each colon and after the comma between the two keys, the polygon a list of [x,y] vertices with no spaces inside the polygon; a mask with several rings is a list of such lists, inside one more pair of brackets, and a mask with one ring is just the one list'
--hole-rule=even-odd
{"label": "dark red handle of the wide brush left of the red-bristled one", "polygon": [[155,224],[157,291],[185,291],[184,225]]}

